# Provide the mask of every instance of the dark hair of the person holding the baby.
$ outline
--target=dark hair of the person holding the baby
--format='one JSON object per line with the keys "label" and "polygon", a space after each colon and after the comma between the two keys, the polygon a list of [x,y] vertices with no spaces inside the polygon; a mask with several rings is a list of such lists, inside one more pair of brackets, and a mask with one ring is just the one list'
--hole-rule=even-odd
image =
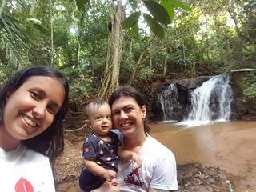
{"label": "dark hair of the person holding the baby", "polygon": [[[134,98],[134,100],[138,103],[138,106],[146,106],[146,103],[144,102],[144,99],[142,98],[142,94],[138,92],[134,87],[132,86],[120,86],[117,90],[115,90],[109,98],[109,104],[110,107],[112,107],[113,103],[122,96],[128,96],[131,98]],[[147,117],[147,115],[146,115]],[[148,135],[150,133],[150,126],[148,125],[147,118],[144,120],[144,131],[145,134]]]}

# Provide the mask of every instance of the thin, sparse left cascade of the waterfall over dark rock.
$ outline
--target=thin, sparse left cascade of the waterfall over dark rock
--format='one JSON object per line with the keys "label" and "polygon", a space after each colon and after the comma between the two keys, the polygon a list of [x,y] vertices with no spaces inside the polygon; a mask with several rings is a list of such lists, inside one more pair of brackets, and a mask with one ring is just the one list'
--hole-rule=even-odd
{"label": "thin, sparse left cascade of the waterfall over dark rock", "polygon": [[163,90],[162,93],[158,94],[158,102],[161,105],[162,120],[171,121],[176,120],[179,109],[178,92],[174,83],[170,84]]}

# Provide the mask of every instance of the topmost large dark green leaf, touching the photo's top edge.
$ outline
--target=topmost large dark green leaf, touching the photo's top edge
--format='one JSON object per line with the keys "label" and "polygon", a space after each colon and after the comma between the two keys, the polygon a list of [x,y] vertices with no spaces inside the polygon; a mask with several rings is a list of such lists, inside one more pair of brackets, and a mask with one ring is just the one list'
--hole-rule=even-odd
{"label": "topmost large dark green leaf, touching the photo's top edge", "polygon": [[162,24],[170,23],[170,17],[165,7],[151,0],[144,1],[144,3],[146,8],[150,11],[150,14],[152,14],[155,19],[162,22]]}

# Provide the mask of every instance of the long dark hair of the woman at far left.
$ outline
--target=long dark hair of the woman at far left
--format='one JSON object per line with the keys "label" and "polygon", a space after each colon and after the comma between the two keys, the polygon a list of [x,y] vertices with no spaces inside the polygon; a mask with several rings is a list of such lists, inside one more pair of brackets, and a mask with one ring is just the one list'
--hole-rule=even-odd
{"label": "long dark hair of the woman at far left", "polygon": [[58,110],[58,113],[55,115],[52,124],[44,132],[38,134],[34,138],[22,141],[28,148],[48,156],[51,161],[64,150],[62,120],[67,113],[69,103],[69,85],[58,70],[54,70],[50,66],[34,66],[20,70],[17,74],[14,74],[13,77],[9,78],[0,90],[0,124],[3,123],[6,98],[18,90],[18,88],[26,82],[27,78],[33,76],[57,78],[65,89],[64,102],[62,103],[60,110]]}

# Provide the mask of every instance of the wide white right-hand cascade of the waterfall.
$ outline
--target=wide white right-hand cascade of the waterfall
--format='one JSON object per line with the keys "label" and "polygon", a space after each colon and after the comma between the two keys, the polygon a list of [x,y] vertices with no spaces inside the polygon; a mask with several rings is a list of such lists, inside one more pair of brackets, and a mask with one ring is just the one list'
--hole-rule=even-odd
{"label": "wide white right-hand cascade of the waterfall", "polygon": [[218,75],[210,78],[192,91],[192,110],[187,121],[229,120],[232,93],[229,76]]}

